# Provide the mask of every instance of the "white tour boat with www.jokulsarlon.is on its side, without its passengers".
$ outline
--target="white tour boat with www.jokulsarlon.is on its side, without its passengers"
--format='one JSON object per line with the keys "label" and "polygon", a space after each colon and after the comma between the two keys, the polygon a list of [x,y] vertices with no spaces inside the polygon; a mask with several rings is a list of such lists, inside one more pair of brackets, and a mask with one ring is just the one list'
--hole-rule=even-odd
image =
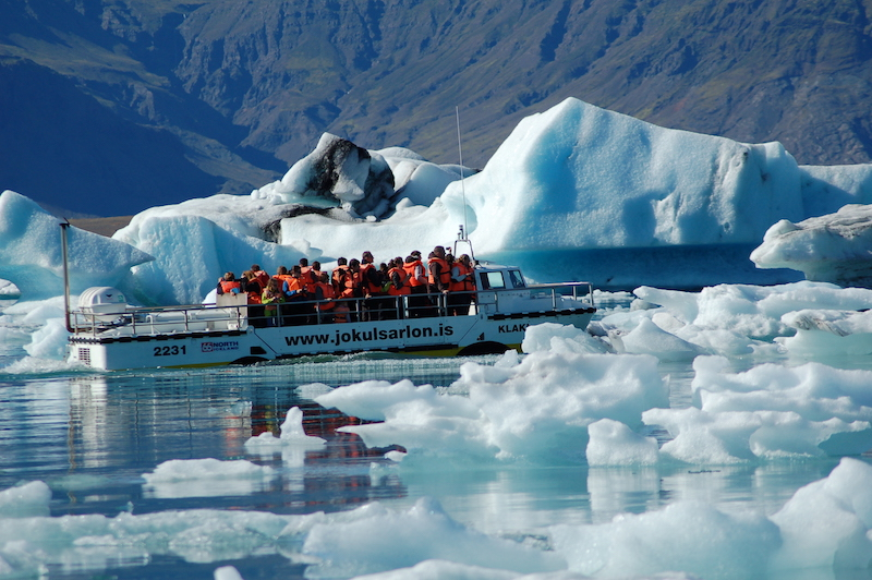
{"label": "white tour boat with www.jokulsarlon.is on its side, without its passengers", "polygon": [[[64,262],[66,246],[64,242]],[[520,350],[528,326],[544,322],[586,328],[596,311],[589,282],[528,283],[520,269],[474,265],[469,305],[446,294],[280,304],[275,312],[221,294],[214,305],[141,307],[116,288],[85,290],[69,307],[66,360],[101,371],[253,364],[288,358],[396,352],[436,357]],[[66,276],[64,276],[66,278]],[[346,312],[347,311],[347,312]],[[339,322],[344,321],[344,322]]]}

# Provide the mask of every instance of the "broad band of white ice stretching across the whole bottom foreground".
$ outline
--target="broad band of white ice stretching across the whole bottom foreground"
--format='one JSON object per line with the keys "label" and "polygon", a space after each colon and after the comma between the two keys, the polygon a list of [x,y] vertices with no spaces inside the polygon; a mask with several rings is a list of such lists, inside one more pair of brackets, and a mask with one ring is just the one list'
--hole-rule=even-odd
{"label": "broad band of white ice stretching across the whole bottom foreground", "polygon": [[[463,525],[427,498],[404,511],[373,503],[308,516],[239,510],[0,515],[0,569],[23,576],[49,565],[100,569],[119,557],[217,563],[281,554],[307,564],[307,578],[370,573],[405,580],[438,572],[475,580],[580,575],[728,580],[810,572],[832,578],[862,573],[872,561],[870,480],[871,466],[846,458],[772,516],[683,500],[607,523],[546,525],[535,530],[540,547]],[[0,502],[15,494],[40,496],[29,500],[32,509],[47,511],[46,488],[34,482],[3,492]],[[231,570],[222,570],[221,578],[235,578],[223,575]]]}

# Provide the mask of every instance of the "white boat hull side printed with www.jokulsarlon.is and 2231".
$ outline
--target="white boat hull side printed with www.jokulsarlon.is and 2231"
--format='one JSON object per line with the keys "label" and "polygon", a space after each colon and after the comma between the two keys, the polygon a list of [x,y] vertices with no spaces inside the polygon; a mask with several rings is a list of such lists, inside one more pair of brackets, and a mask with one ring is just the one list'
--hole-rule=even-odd
{"label": "white boat hull side printed with www.jokulsarlon.is and 2231", "polygon": [[361,351],[450,357],[520,349],[528,326],[543,322],[585,328],[593,307],[559,312],[437,316],[399,321],[312,324],[158,334],[74,335],[68,360],[104,371],[252,364]]}

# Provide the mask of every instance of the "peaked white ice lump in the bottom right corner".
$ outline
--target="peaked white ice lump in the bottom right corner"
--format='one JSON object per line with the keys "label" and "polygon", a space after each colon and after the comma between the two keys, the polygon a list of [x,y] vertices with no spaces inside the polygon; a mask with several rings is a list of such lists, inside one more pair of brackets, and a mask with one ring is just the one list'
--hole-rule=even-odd
{"label": "peaked white ice lump in the bottom right corner", "polygon": [[828,478],[810,483],[774,516],[782,546],[773,571],[865,570],[872,563],[872,467],[843,459]]}

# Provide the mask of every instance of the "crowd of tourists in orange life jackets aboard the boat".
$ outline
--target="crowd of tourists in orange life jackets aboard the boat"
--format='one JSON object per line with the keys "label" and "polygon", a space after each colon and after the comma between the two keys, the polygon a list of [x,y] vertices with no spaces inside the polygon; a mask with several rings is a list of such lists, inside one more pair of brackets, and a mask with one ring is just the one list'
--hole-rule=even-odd
{"label": "crowd of tourists in orange life jackets aboard the boat", "polygon": [[419,251],[378,266],[368,251],[360,259],[340,257],[331,273],[306,258],[290,270],[280,266],[274,276],[254,264],[241,278],[226,273],[217,286],[218,294],[247,294],[249,318],[263,326],[279,324],[279,317],[282,325],[296,325],[437,316],[440,311],[458,316],[469,312],[474,291],[470,256],[455,258],[441,245],[426,261]]}

